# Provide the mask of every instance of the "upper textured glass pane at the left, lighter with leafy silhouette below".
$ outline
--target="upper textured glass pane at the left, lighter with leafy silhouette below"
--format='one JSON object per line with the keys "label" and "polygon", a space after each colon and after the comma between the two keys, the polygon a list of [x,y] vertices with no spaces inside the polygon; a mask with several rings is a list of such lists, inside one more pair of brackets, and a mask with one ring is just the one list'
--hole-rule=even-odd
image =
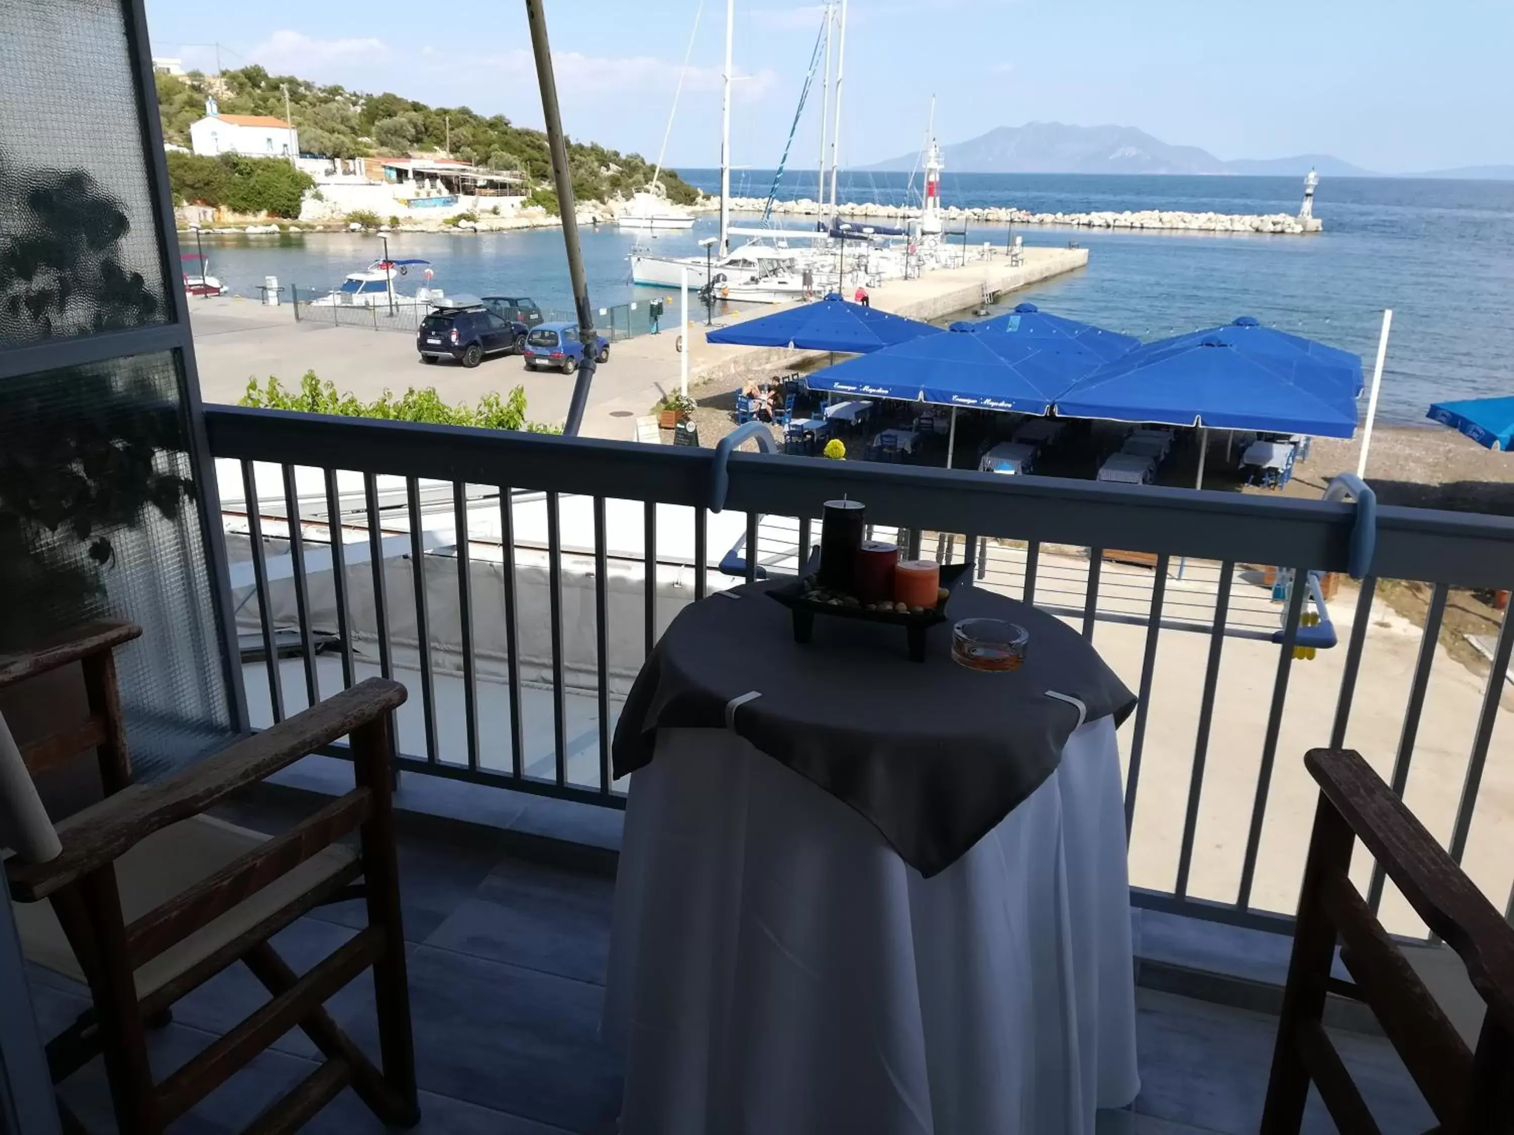
{"label": "upper textured glass pane at the left, lighter with leafy silhouette below", "polygon": [[168,318],[120,0],[0,2],[0,347]]}

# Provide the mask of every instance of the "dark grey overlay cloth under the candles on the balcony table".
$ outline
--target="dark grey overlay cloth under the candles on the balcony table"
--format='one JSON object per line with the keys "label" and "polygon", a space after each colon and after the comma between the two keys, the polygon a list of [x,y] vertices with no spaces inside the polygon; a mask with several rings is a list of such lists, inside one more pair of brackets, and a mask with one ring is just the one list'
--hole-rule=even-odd
{"label": "dark grey overlay cloth under the candles on the balcony table", "polygon": [[[960,589],[924,663],[902,628],[818,617],[793,640],[787,608],[736,587],[686,607],[642,666],[615,728],[615,776],[646,766],[657,729],[728,728],[864,816],[925,878],[949,867],[1057,769],[1086,720],[1122,723],[1136,696],[1060,619]],[[952,622],[1030,631],[1019,670],[951,658]]]}

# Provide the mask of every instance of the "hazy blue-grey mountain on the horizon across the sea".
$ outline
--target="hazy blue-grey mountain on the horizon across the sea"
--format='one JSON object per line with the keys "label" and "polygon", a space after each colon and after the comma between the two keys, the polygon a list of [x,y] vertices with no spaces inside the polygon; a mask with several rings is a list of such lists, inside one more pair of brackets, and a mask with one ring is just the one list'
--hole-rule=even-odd
{"label": "hazy blue-grey mountain on the horizon across the sea", "polygon": [[[1225,162],[1196,145],[1169,145],[1132,126],[1001,126],[942,147],[946,168],[963,174],[1279,174],[1302,177],[1316,166],[1335,177],[1370,176],[1328,154]],[[916,154],[871,169],[913,169]]]}

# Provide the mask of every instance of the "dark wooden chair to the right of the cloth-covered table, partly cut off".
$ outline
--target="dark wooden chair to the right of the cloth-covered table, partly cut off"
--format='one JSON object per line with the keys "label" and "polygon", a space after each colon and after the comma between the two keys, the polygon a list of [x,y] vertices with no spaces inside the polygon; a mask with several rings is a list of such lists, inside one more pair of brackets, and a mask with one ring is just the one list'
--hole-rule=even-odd
{"label": "dark wooden chair to the right of the cloth-covered table, partly cut off", "polygon": [[[1435,1132],[1514,1132],[1514,926],[1358,754],[1314,749],[1304,763],[1320,784],[1320,801],[1304,869],[1263,1133],[1299,1130],[1311,1082],[1341,1132],[1378,1130],[1325,1034],[1322,1015],[1329,993],[1366,1002],[1373,1011],[1440,1120]],[[1347,873],[1357,838],[1466,966],[1485,1005],[1475,1047],[1458,1035],[1403,949],[1352,885]],[[1331,976],[1337,941],[1352,981]]]}

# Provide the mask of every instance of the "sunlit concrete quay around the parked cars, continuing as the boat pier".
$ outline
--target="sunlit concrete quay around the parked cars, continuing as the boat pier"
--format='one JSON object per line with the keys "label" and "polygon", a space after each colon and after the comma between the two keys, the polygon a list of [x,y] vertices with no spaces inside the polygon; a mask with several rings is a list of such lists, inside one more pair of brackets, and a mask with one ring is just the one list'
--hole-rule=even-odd
{"label": "sunlit concrete quay around the parked cars, continuing as the boat pier", "polygon": [[[893,280],[871,289],[875,307],[914,319],[933,319],[977,307],[984,292],[1002,295],[1017,288],[1083,268],[1086,248],[1025,248],[1023,263],[1010,266],[1004,250],[987,260],[969,260],[964,268],[928,272],[917,280]],[[969,256],[977,250],[969,248]],[[663,319],[662,334],[616,342],[610,360],[593,378],[583,421],[586,437],[634,437],[637,415],[645,415],[678,389],[677,295]],[[719,318],[721,325],[768,315],[772,304],[748,304]],[[465,371],[457,365],[425,366],[415,353],[415,339],[397,331],[295,322],[285,307],[263,307],[229,297],[191,300],[200,389],[207,403],[235,403],[248,378],[265,381],[277,375],[286,387],[298,387],[306,371],[371,401],[385,389],[395,393],[407,386],[435,386],[454,403],[475,403],[484,393],[525,387],[531,421],[560,422],[568,413],[574,380],[557,372],[525,371],[519,357],[486,359]],[[689,386],[716,378],[774,374],[816,357],[815,353],[781,348],[724,347],[704,342],[702,310],[690,297]]]}

